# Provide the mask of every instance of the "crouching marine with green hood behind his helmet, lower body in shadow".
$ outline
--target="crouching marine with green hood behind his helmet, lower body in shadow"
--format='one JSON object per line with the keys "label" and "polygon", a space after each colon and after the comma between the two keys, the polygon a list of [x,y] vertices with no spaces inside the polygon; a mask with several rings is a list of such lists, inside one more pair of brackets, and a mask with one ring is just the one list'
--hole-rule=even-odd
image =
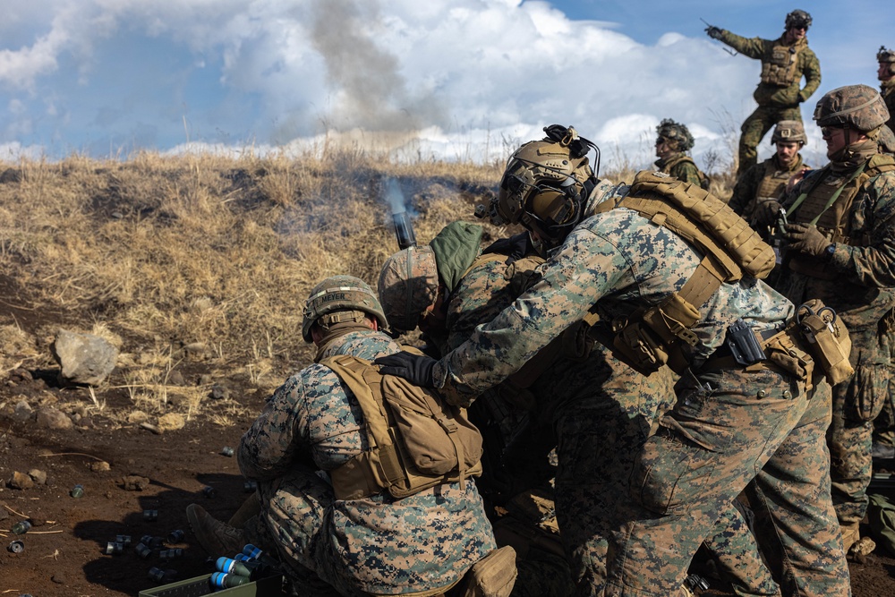
{"label": "crouching marine with green hood behind his helmet, lower body in shadow", "polygon": [[[480,257],[481,239],[482,226],[453,222],[428,245],[389,257],[377,286],[379,302],[392,328],[406,332],[422,326],[426,337],[438,342],[439,354],[447,354],[459,334],[468,333],[484,320],[483,310],[490,310],[495,303],[512,303],[521,294],[521,286],[514,285],[512,278],[530,273],[533,258],[524,258],[524,248],[518,252],[518,236],[493,243],[488,254]],[[518,273],[506,277],[507,269]],[[469,284],[474,287],[473,280],[481,281],[485,271],[489,272],[488,287],[472,291]],[[486,506],[501,507],[500,516],[486,508],[492,514],[498,542],[516,549],[518,577],[513,596],[565,597],[573,585],[558,535],[551,530],[556,527],[555,519],[550,516],[553,492],[549,481],[554,471],[548,455],[556,440],[549,417],[529,414],[540,411],[539,405],[541,401],[534,400],[527,388],[510,388],[485,392],[470,407],[469,418],[484,439],[483,471],[476,484]],[[521,453],[513,458],[518,464],[512,471],[506,466],[511,439],[522,445],[521,450],[514,450]],[[532,491],[531,495],[546,494],[542,503],[548,509],[535,512],[518,506],[533,503]]]}

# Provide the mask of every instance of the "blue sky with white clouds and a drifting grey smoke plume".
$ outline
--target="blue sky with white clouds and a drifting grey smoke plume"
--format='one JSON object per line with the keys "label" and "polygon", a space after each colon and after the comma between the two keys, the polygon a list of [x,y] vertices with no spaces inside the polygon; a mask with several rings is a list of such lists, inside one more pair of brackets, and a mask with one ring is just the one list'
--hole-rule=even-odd
{"label": "blue sky with white clouds and a drifting grey smoke plume", "polygon": [[[895,11],[855,0],[30,0],[0,21],[0,159],[319,149],[500,159],[554,122],[646,166],[664,117],[726,158],[759,64],[700,18],[776,38],[812,13],[821,89],[877,85]],[[807,153],[823,160],[808,126]],[[770,152],[765,143],[763,155]]]}

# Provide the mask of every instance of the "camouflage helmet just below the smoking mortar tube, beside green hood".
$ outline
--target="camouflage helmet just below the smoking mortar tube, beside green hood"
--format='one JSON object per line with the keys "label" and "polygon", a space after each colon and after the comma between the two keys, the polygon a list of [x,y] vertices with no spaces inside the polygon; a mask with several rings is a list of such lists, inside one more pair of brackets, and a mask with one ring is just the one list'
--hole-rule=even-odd
{"label": "camouflage helmet just below the smoking mortar tube, beside green hood", "polygon": [[410,331],[439,294],[439,269],[428,245],[409,247],[389,257],[379,273],[379,301],[396,331]]}

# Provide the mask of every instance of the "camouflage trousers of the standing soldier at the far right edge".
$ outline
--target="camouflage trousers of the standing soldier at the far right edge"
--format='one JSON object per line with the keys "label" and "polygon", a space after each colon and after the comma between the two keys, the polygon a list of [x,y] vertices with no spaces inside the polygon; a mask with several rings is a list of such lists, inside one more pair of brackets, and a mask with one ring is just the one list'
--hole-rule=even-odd
{"label": "camouflage trousers of the standing soldier at the far right edge", "polygon": [[855,525],[867,511],[873,474],[874,419],[889,397],[889,336],[874,328],[852,331],[855,375],[832,388],[833,418],[827,431],[832,498],[840,525]]}

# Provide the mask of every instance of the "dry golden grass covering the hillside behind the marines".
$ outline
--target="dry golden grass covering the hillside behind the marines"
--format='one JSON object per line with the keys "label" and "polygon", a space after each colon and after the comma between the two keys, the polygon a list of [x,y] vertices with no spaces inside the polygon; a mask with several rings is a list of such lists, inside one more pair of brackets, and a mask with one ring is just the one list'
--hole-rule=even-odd
{"label": "dry golden grass covering the hillside behind the marines", "polygon": [[[633,179],[634,168],[616,161],[603,174]],[[275,388],[311,362],[301,337],[311,287],[336,274],[374,286],[397,250],[380,199],[385,177],[399,180],[417,240],[427,243],[449,222],[474,219],[501,171],[396,165],[350,148],[322,158],[143,152],[0,166],[0,268],[9,281],[0,299],[18,308],[5,314],[0,305],[0,366],[46,359],[50,330],[80,328],[120,347],[109,388],[149,415],[202,414],[208,387],[170,383],[192,360],[245,386]],[[507,232],[515,230],[486,226],[485,240]],[[26,324],[21,312],[31,313]],[[107,410],[103,397],[85,397]],[[239,412],[235,403],[214,411],[222,425]]]}

